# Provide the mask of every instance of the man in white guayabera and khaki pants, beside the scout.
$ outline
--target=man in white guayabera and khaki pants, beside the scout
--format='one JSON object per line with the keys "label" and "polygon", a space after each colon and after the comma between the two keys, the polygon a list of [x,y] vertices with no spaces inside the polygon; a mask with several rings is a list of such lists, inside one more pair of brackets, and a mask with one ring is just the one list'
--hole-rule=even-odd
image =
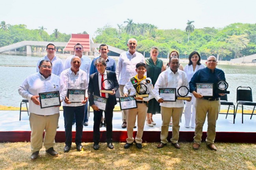
{"label": "man in white guayabera and khaki pants, beside the scout", "polygon": [[[182,86],[186,86],[182,91],[189,88],[187,75],[184,71],[178,69],[179,58],[172,56],[169,59],[170,68],[160,73],[158,80],[154,87],[154,95],[161,106],[162,126],[161,126],[161,143],[158,148],[163,148],[168,143],[167,137],[169,133],[169,123],[171,117],[173,118],[173,135],[171,138],[172,145],[180,149],[178,144],[179,131],[180,131],[180,117],[184,108],[184,101],[176,100],[176,93]],[[182,91],[180,93],[182,93]],[[185,94],[184,94],[185,95]],[[191,100],[191,96],[189,100]]]}

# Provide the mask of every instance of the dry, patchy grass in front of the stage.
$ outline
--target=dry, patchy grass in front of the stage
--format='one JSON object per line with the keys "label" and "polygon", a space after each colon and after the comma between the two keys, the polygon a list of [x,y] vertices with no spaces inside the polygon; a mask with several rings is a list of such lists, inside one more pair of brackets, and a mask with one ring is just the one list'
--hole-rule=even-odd
{"label": "dry, patchy grass in front of the stage", "polygon": [[39,152],[36,161],[30,161],[30,143],[0,143],[0,169],[6,170],[256,170],[256,144],[216,143],[217,151],[211,151],[202,143],[193,150],[191,143],[180,143],[175,149],[170,143],[156,148],[157,143],[143,143],[138,150],[135,144],[124,149],[124,143],[114,143],[110,150],[100,143],[98,151],[93,143],[82,143],[83,150],[76,151],[75,144],[69,153],[63,152],[64,143],[56,143],[58,157]]}

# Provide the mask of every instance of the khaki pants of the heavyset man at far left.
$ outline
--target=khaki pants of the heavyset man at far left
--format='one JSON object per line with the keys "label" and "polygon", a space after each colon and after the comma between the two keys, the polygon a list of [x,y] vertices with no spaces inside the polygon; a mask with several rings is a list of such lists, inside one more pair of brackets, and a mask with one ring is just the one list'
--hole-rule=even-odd
{"label": "khaki pants of the heavyset man at far left", "polygon": [[[29,117],[31,128],[31,151],[39,151],[44,143],[45,149],[54,146],[55,135],[59,121],[59,113],[49,116],[37,115],[30,113]],[[45,131],[45,138],[43,140],[43,133]]]}

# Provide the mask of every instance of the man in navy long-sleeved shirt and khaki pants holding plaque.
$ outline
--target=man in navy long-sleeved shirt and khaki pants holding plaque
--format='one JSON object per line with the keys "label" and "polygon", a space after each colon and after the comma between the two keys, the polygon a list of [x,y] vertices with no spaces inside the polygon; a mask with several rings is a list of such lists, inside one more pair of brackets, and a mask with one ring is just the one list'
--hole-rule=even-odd
{"label": "man in navy long-sleeved shirt and khaki pants holding plaque", "polygon": [[[189,91],[193,93],[196,98],[196,127],[193,143],[193,149],[195,150],[198,150],[200,147],[202,130],[206,116],[208,121],[206,144],[211,150],[217,150],[214,145],[216,135],[215,127],[221,107],[220,96],[225,94],[216,93],[215,89],[211,87],[214,87],[219,80],[226,79],[224,72],[221,69],[216,68],[216,66],[216,57],[208,57],[206,61],[206,68],[199,69],[189,82]],[[200,83],[201,87],[204,87],[203,93],[198,92],[198,83]]]}

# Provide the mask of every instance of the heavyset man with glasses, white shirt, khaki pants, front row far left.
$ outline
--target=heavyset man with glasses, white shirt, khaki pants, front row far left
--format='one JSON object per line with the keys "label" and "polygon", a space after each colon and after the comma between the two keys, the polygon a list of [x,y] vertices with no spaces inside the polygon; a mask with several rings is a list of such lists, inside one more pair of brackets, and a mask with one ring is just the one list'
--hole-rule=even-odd
{"label": "heavyset man with glasses, white shirt, khaki pants, front row far left", "polygon": [[[42,103],[39,101],[39,93],[59,92],[59,105],[65,99],[67,89],[63,81],[52,74],[52,63],[48,60],[41,60],[39,63],[39,72],[28,76],[19,86],[19,94],[28,99],[30,112],[30,128],[31,128],[31,161],[35,161],[38,157],[39,150],[44,143],[46,154],[52,157],[58,156],[58,152],[53,149],[55,143],[56,129],[59,121],[59,107],[42,108]],[[58,99],[58,100],[59,100]],[[44,102],[43,104],[51,105]],[[43,133],[45,138],[43,140]]]}

